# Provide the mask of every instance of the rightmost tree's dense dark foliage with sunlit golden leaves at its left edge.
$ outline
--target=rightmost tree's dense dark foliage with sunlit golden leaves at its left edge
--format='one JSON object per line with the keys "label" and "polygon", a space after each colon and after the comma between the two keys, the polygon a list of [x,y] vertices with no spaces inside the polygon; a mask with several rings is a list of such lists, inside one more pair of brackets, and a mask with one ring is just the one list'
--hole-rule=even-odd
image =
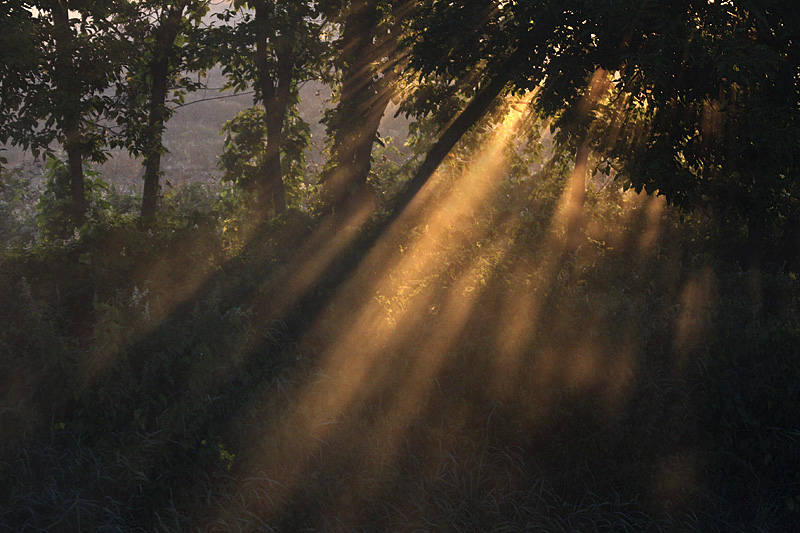
{"label": "rightmost tree's dense dark foliage with sunlit golden leaves at its left edge", "polygon": [[[637,190],[744,220],[751,261],[796,260],[800,6],[698,2],[687,11],[669,31],[640,22],[649,31],[624,51],[614,88],[627,105],[620,118],[598,121],[606,128],[593,144]],[[602,142],[607,127],[619,141]],[[780,250],[768,256],[771,241]]]}

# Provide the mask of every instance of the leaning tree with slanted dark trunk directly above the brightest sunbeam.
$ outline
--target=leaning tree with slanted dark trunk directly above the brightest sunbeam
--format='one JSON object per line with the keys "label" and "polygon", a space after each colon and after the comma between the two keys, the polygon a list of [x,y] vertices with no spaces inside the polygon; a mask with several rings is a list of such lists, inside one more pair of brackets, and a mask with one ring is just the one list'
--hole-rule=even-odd
{"label": "leaning tree with slanted dark trunk directly above the brightest sunbeam", "polygon": [[[518,18],[504,3],[469,0],[467,2],[428,2],[414,18],[408,37],[411,66],[418,73],[418,88],[402,107],[407,114],[442,113],[444,124],[436,142],[428,150],[404,194],[395,201],[402,209],[436,171],[464,134],[497,104],[512,82],[530,66],[534,77],[544,76],[549,40],[558,25],[551,5],[532,6],[522,20],[537,24],[523,30]],[[444,94],[431,94],[443,85]],[[526,80],[527,81],[527,80]],[[463,107],[452,109],[455,94],[462,96]]]}

